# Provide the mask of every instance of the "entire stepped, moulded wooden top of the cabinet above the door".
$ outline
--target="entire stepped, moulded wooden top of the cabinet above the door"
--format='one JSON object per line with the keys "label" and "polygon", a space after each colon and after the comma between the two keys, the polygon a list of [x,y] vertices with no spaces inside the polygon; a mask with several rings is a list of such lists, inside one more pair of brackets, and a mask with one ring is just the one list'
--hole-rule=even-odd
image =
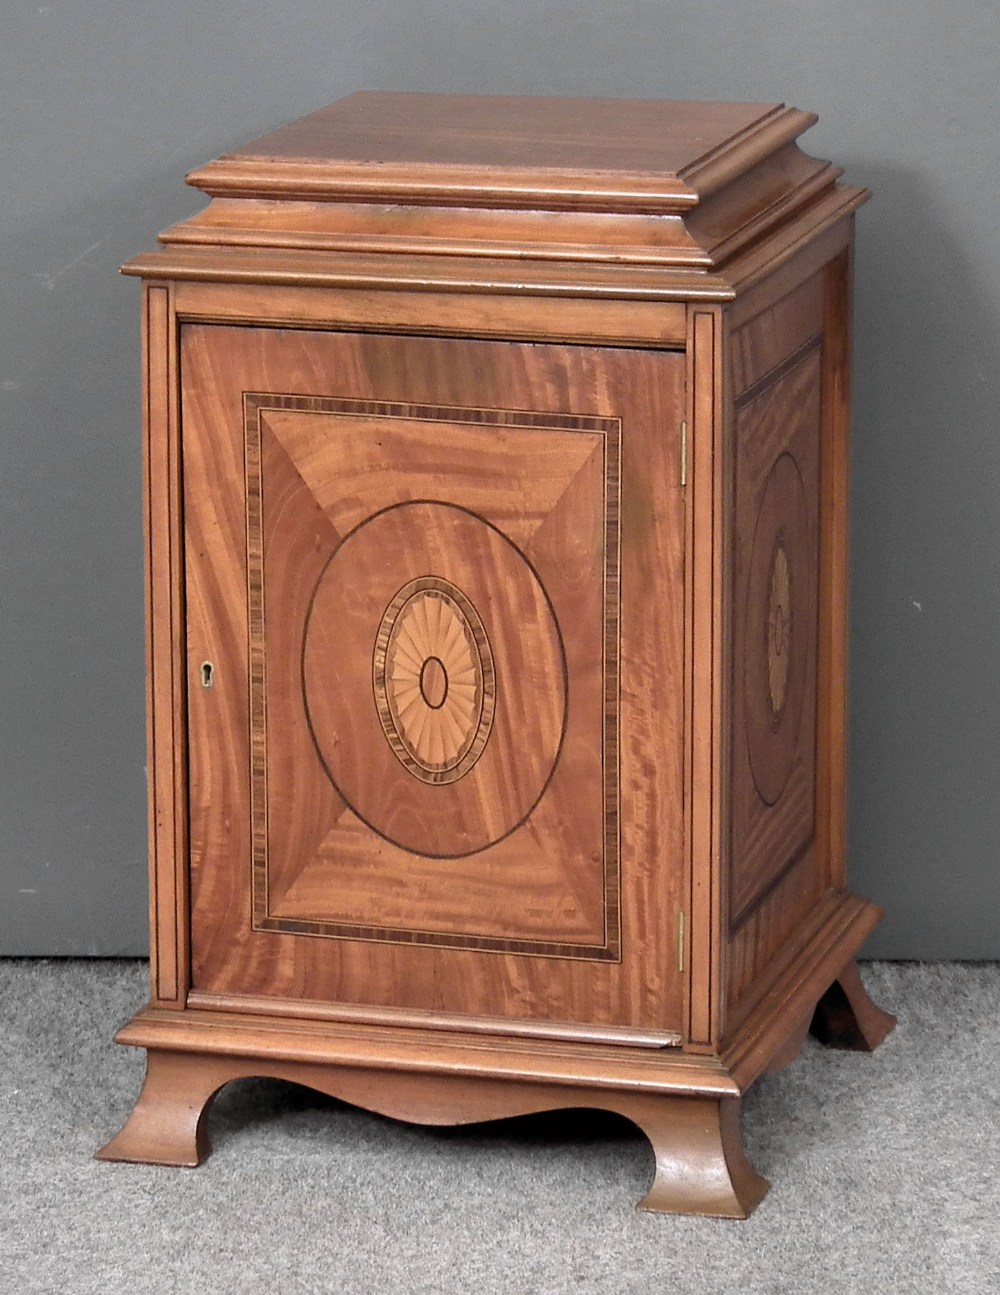
{"label": "entire stepped, moulded wooden top of the cabinet above the door", "polygon": [[127,273],[727,300],[867,194],[782,104],[358,93],[199,167]]}

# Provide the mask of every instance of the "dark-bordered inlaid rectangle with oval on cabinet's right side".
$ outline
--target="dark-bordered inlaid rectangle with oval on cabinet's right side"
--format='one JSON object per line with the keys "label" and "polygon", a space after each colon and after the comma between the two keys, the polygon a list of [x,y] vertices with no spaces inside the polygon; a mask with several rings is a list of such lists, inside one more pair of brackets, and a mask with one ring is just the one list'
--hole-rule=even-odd
{"label": "dark-bordered inlaid rectangle with oval on cabinet's right side", "polygon": [[799,354],[737,413],[733,935],[815,833],[819,343]]}

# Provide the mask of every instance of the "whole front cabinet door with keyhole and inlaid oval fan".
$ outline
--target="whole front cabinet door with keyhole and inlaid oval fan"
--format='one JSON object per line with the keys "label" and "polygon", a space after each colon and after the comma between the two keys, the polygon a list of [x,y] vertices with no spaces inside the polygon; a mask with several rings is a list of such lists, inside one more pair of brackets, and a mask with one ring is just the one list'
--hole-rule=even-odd
{"label": "whole front cabinet door with keyhole and inlaid oval fan", "polygon": [[181,381],[194,988],[679,1027],[683,357],[189,325]]}

